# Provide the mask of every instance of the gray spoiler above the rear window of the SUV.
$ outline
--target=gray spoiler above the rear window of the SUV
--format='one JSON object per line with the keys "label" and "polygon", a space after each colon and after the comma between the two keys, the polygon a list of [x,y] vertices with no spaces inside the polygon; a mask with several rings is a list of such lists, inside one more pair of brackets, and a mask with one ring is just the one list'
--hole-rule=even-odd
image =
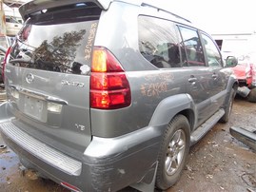
{"label": "gray spoiler above the rear window of the SUV", "polygon": [[69,6],[72,4],[79,4],[79,3],[87,3],[92,2],[95,3],[100,9],[108,10],[108,7],[112,0],[34,0],[29,3],[22,5],[19,8],[20,14],[24,21],[26,21],[30,14],[34,12],[38,12],[41,10],[47,10],[52,7],[59,7],[59,6]]}

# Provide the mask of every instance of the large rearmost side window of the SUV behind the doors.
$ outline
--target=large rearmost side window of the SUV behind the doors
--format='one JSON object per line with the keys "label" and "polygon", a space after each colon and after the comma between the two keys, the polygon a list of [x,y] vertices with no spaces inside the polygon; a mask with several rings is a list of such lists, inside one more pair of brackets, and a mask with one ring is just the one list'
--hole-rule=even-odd
{"label": "large rearmost side window of the SUV behind the doors", "polygon": [[182,67],[175,25],[167,20],[139,17],[139,48],[155,67]]}

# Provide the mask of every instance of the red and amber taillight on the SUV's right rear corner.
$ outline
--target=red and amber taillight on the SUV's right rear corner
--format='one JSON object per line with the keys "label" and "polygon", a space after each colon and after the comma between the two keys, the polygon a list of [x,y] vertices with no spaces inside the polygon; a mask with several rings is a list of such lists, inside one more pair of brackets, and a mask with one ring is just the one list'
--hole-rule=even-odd
{"label": "red and amber taillight on the SUV's right rear corner", "polygon": [[124,69],[107,48],[94,48],[90,75],[90,107],[129,106],[130,88]]}

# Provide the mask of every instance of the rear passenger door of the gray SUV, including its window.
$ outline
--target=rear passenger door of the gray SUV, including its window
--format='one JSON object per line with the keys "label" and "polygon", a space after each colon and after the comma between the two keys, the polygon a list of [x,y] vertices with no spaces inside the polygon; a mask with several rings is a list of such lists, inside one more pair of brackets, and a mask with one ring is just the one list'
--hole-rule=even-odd
{"label": "rear passenger door of the gray SUV, including its window", "polygon": [[187,93],[196,106],[198,125],[204,123],[210,116],[210,81],[204,49],[196,29],[179,27],[187,62],[184,63],[183,76],[187,80]]}

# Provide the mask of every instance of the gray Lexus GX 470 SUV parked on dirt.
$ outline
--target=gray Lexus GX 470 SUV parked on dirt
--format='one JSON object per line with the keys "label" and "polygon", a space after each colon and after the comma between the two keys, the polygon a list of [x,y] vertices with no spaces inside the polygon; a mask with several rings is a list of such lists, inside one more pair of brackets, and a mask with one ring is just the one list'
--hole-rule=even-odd
{"label": "gray Lexus GX 470 SUV parked on dirt", "polygon": [[0,129],[40,176],[73,191],[165,190],[189,146],[228,121],[237,81],[187,19],[130,0],[34,0],[20,12]]}

